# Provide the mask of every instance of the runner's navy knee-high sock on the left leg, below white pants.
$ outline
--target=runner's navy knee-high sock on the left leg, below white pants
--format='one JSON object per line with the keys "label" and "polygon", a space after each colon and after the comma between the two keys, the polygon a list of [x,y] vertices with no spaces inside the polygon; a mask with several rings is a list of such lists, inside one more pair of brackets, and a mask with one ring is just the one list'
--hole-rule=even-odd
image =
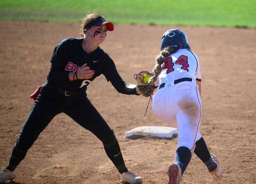
{"label": "runner's navy knee-high sock on the left leg, below white pants", "polygon": [[191,160],[191,151],[189,148],[185,146],[181,146],[176,150],[175,164],[180,166],[182,175],[186,170],[190,160]]}

